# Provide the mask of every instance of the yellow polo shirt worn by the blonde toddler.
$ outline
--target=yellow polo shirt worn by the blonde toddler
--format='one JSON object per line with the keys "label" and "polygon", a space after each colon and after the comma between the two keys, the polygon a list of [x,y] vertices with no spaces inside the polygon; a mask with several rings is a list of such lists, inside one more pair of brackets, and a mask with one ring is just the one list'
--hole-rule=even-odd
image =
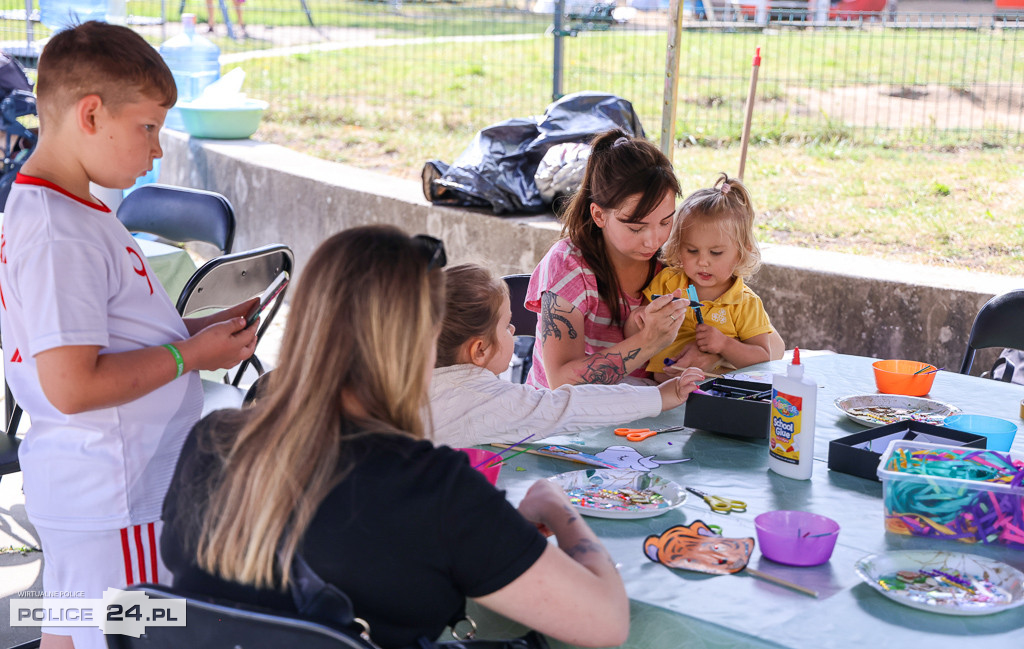
{"label": "yellow polo shirt worn by the blonde toddler", "polygon": [[[685,298],[689,285],[690,279],[681,268],[666,268],[651,279],[643,294],[650,300],[651,295],[666,295],[682,289]],[[743,284],[742,277],[736,277],[732,286],[717,300],[705,300],[703,305],[700,313],[705,324],[711,324],[729,338],[744,341],[773,331],[761,298]],[[675,342],[654,354],[647,363],[647,371],[665,372],[666,358],[675,358],[682,353],[683,347],[696,339],[696,327],[697,319],[693,309],[687,309]]]}

